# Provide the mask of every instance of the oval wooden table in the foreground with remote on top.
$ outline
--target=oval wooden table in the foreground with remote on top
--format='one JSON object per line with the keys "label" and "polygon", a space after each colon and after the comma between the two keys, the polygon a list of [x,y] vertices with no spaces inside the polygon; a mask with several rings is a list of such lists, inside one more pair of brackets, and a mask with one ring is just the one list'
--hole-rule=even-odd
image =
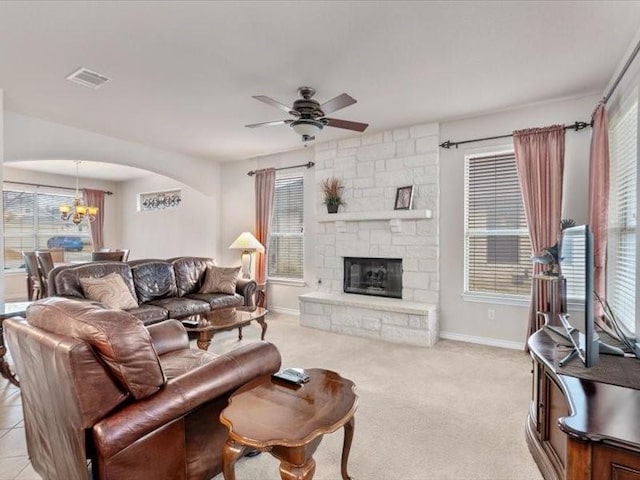
{"label": "oval wooden table in the foreground with remote on top", "polygon": [[313,453],[322,436],[344,427],[341,473],[350,480],[347,461],[358,407],[356,387],[335,372],[308,369],[309,382],[300,387],[263,376],[229,398],[220,421],[229,429],[223,449],[225,480],[235,480],[236,460],[247,448],[270,452],[280,460],[283,480],[311,480],[316,470]]}

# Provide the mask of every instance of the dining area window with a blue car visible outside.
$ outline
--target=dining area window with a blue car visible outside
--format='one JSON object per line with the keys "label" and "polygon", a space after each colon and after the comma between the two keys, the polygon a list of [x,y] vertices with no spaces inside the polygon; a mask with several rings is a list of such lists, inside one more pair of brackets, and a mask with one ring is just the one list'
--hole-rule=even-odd
{"label": "dining area window with a blue car visible outside", "polygon": [[75,225],[60,218],[58,207],[73,196],[4,190],[4,268],[24,268],[23,251],[62,248],[65,260],[90,260],[91,235],[85,222]]}

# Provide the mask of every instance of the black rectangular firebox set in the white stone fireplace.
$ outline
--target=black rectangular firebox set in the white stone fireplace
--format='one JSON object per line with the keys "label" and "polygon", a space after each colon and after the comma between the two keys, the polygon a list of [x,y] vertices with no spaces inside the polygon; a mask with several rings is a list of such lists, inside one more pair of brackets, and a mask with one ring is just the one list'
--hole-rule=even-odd
{"label": "black rectangular firebox set in the white stone fireplace", "polygon": [[402,298],[402,259],[344,257],[344,291]]}

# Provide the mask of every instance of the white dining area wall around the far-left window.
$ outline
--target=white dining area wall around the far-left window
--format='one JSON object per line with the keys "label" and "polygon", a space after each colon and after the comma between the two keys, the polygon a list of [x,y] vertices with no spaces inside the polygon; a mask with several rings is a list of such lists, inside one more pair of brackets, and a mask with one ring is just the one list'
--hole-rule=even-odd
{"label": "white dining area wall around the far-left window", "polygon": [[[45,185],[57,185],[60,187],[75,188],[76,177],[66,175],[53,175],[47,173],[37,173],[29,170],[11,168],[5,164],[2,168],[3,180],[5,182],[27,182]],[[104,203],[104,240],[105,246],[111,248],[122,247],[120,240],[120,194],[119,184],[117,182],[106,182],[90,178],[80,178],[80,186],[87,188],[95,188],[113,192],[113,195],[105,195]],[[9,183],[9,187],[12,185]],[[33,188],[16,186],[17,188]],[[42,188],[39,191],[53,191]],[[2,250],[4,252],[4,249]],[[27,292],[25,287],[24,272],[5,273],[5,285],[2,290],[8,301],[24,300]]]}

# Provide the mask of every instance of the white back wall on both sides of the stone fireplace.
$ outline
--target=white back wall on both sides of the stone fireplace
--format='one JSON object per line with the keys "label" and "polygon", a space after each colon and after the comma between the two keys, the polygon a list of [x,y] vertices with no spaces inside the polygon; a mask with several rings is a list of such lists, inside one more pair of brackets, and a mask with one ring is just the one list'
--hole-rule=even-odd
{"label": "white back wall on both sides of the stone fireplace", "polygon": [[[598,95],[559,100],[476,118],[449,121],[440,125],[440,142],[508,134],[513,130],[540,127],[555,123],[589,121],[599,100]],[[476,341],[513,348],[524,345],[528,307],[507,306],[464,301],[463,252],[464,252],[464,156],[469,152],[492,146],[509,144],[510,139],[488,141],[460,146],[450,150],[440,149],[440,329],[444,337]],[[565,188],[563,218],[576,222],[587,221],[587,181],[591,130],[568,131],[565,155]],[[254,158],[244,162],[222,165],[221,257],[226,264],[237,264],[234,251],[225,250],[244,230],[252,230],[254,222],[253,178],[249,170],[306,163],[313,160],[311,149],[300,149],[279,155]],[[313,169],[312,169],[313,170]],[[314,172],[307,172],[310,181],[305,183],[305,238],[307,247],[313,244],[312,231],[317,201],[317,179]],[[305,177],[305,180],[306,178]],[[313,191],[308,188],[313,186]],[[297,295],[316,290],[316,251],[305,250],[304,287],[275,285],[270,290],[272,308],[297,310]],[[495,311],[495,319],[489,320],[488,309]]]}

